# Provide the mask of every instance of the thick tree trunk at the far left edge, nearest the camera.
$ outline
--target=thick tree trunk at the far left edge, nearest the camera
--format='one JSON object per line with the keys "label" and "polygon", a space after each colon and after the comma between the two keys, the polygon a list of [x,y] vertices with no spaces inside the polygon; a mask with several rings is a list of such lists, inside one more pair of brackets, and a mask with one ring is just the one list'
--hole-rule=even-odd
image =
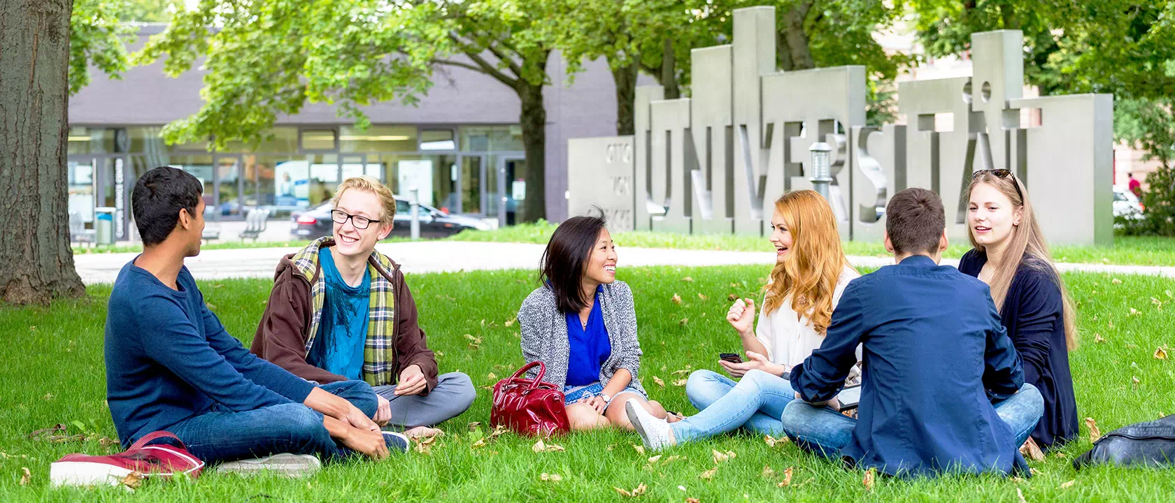
{"label": "thick tree trunk at the far left edge, nearest the camera", "polygon": [[0,4],[0,299],[8,303],[86,293],[69,247],[72,12],[73,0]]}

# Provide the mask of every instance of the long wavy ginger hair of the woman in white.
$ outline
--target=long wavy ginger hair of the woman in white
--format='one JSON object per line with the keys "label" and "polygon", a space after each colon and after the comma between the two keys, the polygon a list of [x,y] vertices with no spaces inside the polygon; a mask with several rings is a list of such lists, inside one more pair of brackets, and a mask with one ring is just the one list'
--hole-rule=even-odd
{"label": "long wavy ginger hair of the woman in white", "polygon": [[817,333],[832,322],[832,297],[848,259],[840,249],[840,233],[832,206],[812,190],[793,190],[776,200],[776,211],[792,234],[791,251],[771,270],[764,312],[778,310],[791,295],[792,311],[807,315]]}

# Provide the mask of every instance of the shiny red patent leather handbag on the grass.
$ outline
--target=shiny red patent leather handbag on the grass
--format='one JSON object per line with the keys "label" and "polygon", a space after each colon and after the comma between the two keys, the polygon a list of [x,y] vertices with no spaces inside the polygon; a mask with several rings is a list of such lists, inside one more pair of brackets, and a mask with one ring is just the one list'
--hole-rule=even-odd
{"label": "shiny red patent leather handbag on the grass", "polygon": [[[525,379],[526,371],[538,367],[535,379]],[[494,385],[494,407],[490,427],[499,424],[519,435],[551,436],[571,431],[563,390],[543,382],[546,366],[542,361],[528,363],[513,375]]]}

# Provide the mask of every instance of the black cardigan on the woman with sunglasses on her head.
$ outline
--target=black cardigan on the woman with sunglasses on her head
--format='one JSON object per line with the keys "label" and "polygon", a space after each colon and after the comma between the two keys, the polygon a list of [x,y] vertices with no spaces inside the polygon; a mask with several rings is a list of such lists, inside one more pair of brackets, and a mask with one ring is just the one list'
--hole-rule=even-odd
{"label": "black cardigan on the woman with sunglasses on her head", "polygon": [[[1049,448],[1077,436],[1077,402],[1065,342],[1061,288],[1053,269],[1038,261],[1021,261],[1000,318],[1023,360],[1025,383],[1035,386],[1045,396],[1045,416],[1032,437],[1041,448]],[[962,256],[959,271],[979,277],[986,263],[986,253],[972,250]]]}

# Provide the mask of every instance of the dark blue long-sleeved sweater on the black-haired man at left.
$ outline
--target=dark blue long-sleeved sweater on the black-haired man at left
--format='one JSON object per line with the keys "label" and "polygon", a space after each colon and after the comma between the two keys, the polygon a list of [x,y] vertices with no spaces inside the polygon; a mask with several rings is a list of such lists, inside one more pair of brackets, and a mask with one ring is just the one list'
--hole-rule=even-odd
{"label": "dark blue long-sleeved sweater on the black-haired man at left", "polygon": [[187,267],[180,291],[122,266],[106,314],[106,399],[122,447],[208,410],[302,402],[314,385],[241,346],[208,311]]}

